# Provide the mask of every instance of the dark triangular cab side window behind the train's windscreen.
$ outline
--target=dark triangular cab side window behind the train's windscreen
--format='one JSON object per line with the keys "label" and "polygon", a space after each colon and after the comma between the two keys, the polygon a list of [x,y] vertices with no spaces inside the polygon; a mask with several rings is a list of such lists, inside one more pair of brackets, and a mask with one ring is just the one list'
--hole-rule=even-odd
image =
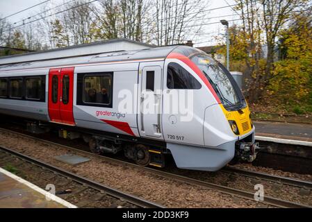
{"label": "dark triangular cab side window behind the train's windscreen", "polygon": [[181,65],[170,62],[167,68],[168,89],[200,89],[202,85]]}

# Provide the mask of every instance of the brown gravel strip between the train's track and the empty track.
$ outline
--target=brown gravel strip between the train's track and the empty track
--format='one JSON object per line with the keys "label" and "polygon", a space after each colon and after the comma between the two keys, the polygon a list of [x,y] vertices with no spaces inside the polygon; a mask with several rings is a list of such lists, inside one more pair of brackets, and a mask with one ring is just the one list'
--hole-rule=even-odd
{"label": "brown gravel strip between the train's track and the empty track", "polygon": [[65,164],[54,158],[58,155],[74,154],[73,151],[48,146],[19,136],[13,137],[8,133],[0,133],[0,145],[167,207],[262,206],[253,200],[222,194],[206,187],[188,185],[170,178],[156,176],[144,169],[133,169],[106,162],[97,157],[88,156],[89,162],[76,166]]}

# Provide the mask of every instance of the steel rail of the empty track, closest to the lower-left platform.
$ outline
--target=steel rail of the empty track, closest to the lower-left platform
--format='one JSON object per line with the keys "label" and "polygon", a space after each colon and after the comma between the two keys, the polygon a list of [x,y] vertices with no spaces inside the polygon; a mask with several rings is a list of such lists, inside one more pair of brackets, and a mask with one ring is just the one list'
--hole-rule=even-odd
{"label": "steel rail of the empty track, closest to the lower-left platform", "polygon": [[35,160],[33,157],[29,157],[27,155],[24,155],[22,153],[19,153],[17,151],[13,151],[10,148],[6,148],[3,146],[0,146],[1,151],[5,151],[6,153],[10,153],[11,155],[17,156],[27,162],[31,162],[33,164],[36,164],[40,167],[43,167],[44,169],[48,169],[49,171],[53,171],[55,173],[58,173],[58,175],[64,176],[66,178],[70,178],[74,180],[75,182],[78,182],[82,185],[88,185],[88,187],[91,187],[93,189],[97,189],[99,191],[104,191],[106,194],[113,196],[115,198],[119,198],[121,200],[125,200],[128,203],[132,203],[133,205],[136,205],[138,207],[144,207],[144,208],[164,208],[163,205],[159,205],[157,203],[154,203],[149,200],[142,199],[138,196],[133,196],[132,194],[127,194],[123,191],[113,189],[111,187],[108,187],[106,185],[102,185],[99,182],[95,182],[92,180],[89,180],[87,178],[83,178],[81,176],[78,176],[74,173],[70,173],[69,171],[65,171],[63,169],[60,169],[58,167],[54,167],[51,164],[47,164],[45,162],[42,162],[40,160]]}

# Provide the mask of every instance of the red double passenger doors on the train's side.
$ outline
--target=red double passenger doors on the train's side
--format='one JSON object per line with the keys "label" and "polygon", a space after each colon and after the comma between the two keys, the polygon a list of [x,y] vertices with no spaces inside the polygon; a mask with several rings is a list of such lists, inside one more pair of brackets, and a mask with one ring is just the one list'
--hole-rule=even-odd
{"label": "red double passenger doors on the train's side", "polygon": [[49,117],[51,122],[75,125],[73,114],[74,67],[49,71]]}

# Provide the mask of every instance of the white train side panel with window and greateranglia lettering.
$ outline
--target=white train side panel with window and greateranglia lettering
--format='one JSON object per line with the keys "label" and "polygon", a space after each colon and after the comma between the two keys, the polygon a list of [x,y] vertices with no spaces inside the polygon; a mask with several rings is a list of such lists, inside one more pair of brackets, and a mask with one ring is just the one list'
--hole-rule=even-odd
{"label": "white train side panel with window and greateranglia lettering", "polygon": [[[138,62],[133,62],[76,67],[74,71],[74,119],[76,126],[138,137],[136,117],[138,65]],[[112,76],[112,104],[106,106],[97,103],[83,103],[81,105],[79,101],[77,103],[77,98],[79,99],[77,95],[81,93],[79,92],[81,90],[79,84],[85,90],[83,84],[86,83],[83,82],[83,78],[105,74]]]}

